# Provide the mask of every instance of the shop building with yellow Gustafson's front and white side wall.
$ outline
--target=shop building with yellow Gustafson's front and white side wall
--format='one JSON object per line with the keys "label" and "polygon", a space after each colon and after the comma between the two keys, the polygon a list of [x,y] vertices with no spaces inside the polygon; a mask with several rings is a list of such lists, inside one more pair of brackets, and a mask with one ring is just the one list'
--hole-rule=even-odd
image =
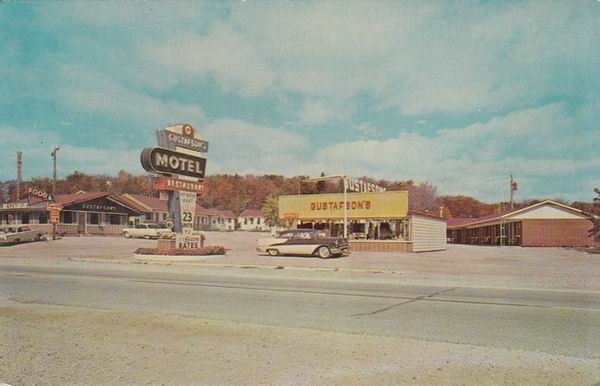
{"label": "shop building with yellow Gustafson's front and white side wall", "polygon": [[445,250],[446,221],[408,210],[408,192],[303,194],[279,197],[279,215],[291,229],[347,234],[353,251],[425,252]]}

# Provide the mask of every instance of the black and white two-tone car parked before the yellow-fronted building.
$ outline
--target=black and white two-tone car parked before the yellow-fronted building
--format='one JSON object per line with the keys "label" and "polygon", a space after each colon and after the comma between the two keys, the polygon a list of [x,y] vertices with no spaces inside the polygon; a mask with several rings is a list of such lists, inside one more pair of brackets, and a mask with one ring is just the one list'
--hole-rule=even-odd
{"label": "black and white two-tone car parked before the yellow-fronted building", "polygon": [[259,252],[277,255],[316,255],[322,259],[350,253],[348,241],[342,237],[327,237],[319,230],[294,229],[258,240]]}

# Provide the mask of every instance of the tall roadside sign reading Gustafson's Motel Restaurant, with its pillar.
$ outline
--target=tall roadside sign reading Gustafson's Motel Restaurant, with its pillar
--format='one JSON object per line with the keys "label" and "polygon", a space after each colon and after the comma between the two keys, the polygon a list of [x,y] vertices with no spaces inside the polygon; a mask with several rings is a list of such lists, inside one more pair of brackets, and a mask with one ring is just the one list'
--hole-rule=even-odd
{"label": "tall roadside sign reading Gustafson's Motel Restaurant, with its pillar", "polygon": [[177,248],[199,248],[200,237],[192,232],[196,198],[207,190],[204,154],[208,142],[189,124],[157,130],[156,137],[158,146],[142,151],[142,167],[155,175],[154,189],[168,192]]}

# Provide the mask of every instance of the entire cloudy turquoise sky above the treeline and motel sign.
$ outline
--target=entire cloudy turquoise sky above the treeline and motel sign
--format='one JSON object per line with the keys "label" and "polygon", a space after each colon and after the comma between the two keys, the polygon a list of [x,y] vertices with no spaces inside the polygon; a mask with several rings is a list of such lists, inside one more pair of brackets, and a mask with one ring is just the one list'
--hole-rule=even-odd
{"label": "entire cloudy turquoise sky above the treeline and motel sign", "polygon": [[487,202],[600,185],[600,1],[0,2],[0,180],[144,173],[187,122],[207,174],[428,181]]}

